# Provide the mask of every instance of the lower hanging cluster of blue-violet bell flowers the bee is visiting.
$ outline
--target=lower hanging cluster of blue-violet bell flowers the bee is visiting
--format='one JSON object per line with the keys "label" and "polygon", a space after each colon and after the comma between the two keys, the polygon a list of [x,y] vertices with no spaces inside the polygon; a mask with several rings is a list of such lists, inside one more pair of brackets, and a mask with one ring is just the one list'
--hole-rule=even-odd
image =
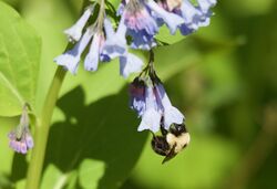
{"label": "lower hanging cluster of blue-violet bell flowers the bee is visiting", "polygon": [[171,125],[184,122],[184,115],[172,105],[152,62],[131,83],[130,96],[131,108],[142,118],[138,132],[147,129],[156,133],[161,126],[168,130]]}

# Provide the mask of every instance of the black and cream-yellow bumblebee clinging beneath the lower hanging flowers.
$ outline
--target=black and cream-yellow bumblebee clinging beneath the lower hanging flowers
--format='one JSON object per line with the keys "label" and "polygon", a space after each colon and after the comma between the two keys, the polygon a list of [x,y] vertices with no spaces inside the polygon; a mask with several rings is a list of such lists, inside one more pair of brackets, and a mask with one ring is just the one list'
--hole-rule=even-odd
{"label": "black and cream-yellow bumblebee clinging beneath the lower hanging flowers", "polygon": [[185,124],[174,124],[170,130],[161,127],[162,136],[153,134],[151,141],[152,149],[161,155],[165,156],[162,164],[174,158],[183,148],[185,148],[189,140],[189,134],[186,130]]}

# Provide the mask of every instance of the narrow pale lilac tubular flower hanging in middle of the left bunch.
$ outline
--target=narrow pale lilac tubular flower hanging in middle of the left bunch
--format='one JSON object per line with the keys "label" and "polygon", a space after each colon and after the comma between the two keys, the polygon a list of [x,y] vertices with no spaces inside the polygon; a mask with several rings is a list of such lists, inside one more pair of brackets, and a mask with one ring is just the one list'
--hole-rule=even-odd
{"label": "narrow pale lilac tubular flower hanging in middle of the left bunch", "polygon": [[86,71],[96,71],[100,60],[100,54],[104,45],[104,34],[95,33],[90,46],[89,54],[84,59],[84,69]]}

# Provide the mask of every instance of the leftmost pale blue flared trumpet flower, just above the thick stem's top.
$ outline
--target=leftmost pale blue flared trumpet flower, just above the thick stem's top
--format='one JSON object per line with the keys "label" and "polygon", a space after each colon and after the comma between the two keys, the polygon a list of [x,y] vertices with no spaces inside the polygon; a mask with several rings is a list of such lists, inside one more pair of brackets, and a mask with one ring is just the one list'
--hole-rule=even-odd
{"label": "leftmost pale blue flared trumpet flower, just above the thick stem's top", "polygon": [[57,62],[58,65],[61,65],[65,70],[70,71],[72,74],[75,74],[81,59],[81,54],[91,41],[92,35],[93,31],[91,31],[91,29],[86,29],[82,39],[75,44],[75,46],[72,50],[69,50],[65,53],[55,57],[54,62]]}

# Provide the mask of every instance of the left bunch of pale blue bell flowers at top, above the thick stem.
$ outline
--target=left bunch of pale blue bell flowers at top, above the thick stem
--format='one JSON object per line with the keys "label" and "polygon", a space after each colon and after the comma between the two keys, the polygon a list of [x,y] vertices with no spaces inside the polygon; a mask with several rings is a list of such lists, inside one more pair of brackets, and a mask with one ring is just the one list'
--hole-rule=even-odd
{"label": "left bunch of pale blue bell flowers at top, above the thick stem", "polygon": [[127,52],[126,39],[123,35],[124,28],[119,28],[115,32],[111,21],[104,17],[104,1],[100,6],[99,17],[96,21],[86,27],[90,17],[93,14],[95,4],[86,8],[83,15],[78,22],[65,30],[70,42],[74,42],[73,49],[64,52],[54,59],[54,61],[75,74],[81,61],[81,55],[90,44],[89,53],[84,57],[84,69],[86,71],[96,71],[99,62],[110,62],[115,57],[120,57],[120,73],[124,77],[133,72],[140,72],[143,62],[132,53]]}

